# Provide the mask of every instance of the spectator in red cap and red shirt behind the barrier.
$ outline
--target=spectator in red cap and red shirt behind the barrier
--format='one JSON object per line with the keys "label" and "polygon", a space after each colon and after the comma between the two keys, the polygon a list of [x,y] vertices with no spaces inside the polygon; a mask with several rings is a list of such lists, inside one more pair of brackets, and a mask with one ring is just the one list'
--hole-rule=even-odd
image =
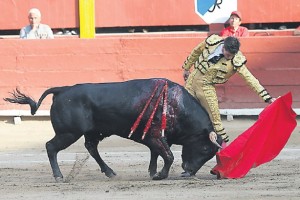
{"label": "spectator in red cap and red shirt behind the barrier", "polygon": [[239,11],[233,11],[229,18],[229,26],[224,28],[221,36],[247,37],[249,36],[248,29],[240,26],[242,23],[242,14]]}

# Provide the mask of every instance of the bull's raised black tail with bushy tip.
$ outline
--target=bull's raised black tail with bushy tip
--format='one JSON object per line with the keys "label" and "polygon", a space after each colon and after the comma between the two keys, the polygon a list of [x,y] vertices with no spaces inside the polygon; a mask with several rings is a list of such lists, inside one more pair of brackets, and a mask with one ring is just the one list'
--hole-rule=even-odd
{"label": "bull's raised black tail with bushy tip", "polygon": [[63,90],[64,87],[55,87],[55,88],[50,88],[46,90],[42,96],[40,97],[39,101],[36,102],[29,96],[23,94],[20,92],[18,88],[16,88],[15,91],[11,92],[12,97],[11,98],[4,98],[4,101],[10,102],[10,103],[17,103],[17,104],[29,104],[30,109],[31,109],[31,114],[34,115],[38,108],[40,107],[42,101],[48,94],[58,94]]}

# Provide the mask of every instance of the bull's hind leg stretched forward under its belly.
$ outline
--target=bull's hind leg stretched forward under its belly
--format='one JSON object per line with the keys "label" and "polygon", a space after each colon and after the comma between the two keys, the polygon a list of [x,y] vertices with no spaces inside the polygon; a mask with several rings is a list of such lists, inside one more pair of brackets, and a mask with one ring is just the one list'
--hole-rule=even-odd
{"label": "bull's hind leg stretched forward under its belly", "polygon": [[89,135],[85,135],[85,148],[89,151],[90,155],[96,160],[98,165],[100,166],[101,172],[105,173],[105,175],[109,178],[116,176],[117,174],[107,166],[107,164],[100,157],[98,146],[99,140],[90,137]]}

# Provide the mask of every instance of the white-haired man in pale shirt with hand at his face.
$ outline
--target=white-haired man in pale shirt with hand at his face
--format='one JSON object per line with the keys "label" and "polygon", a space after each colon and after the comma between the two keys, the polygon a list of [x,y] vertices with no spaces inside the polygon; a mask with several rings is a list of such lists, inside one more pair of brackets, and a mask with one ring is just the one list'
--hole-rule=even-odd
{"label": "white-haired man in pale shirt with hand at his face", "polygon": [[46,24],[41,24],[41,12],[32,8],[28,12],[29,25],[20,31],[21,39],[53,39],[53,32]]}

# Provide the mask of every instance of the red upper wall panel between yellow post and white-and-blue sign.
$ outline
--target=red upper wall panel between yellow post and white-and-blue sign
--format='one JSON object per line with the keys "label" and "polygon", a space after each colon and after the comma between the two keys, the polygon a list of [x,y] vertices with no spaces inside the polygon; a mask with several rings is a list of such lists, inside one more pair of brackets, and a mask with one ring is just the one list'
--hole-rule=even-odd
{"label": "red upper wall panel between yellow post and white-and-blue sign", "polygon": [[192,0],[99,0],[95,6],[97,27],[205,24]]}

